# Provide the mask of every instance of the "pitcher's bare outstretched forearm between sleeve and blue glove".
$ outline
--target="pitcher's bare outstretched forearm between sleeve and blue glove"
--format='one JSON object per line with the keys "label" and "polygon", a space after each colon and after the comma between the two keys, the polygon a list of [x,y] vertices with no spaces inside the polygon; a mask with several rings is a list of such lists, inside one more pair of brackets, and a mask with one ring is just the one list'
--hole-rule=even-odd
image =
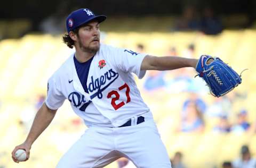
{"label": "pitcher's bare outstretched forearm between sleeve and blue glove", "polygon": [[198,60],[178,56],[152,56],[147,55],[141,63],[141,70],[174,70],[185,67],[196,68]]}

